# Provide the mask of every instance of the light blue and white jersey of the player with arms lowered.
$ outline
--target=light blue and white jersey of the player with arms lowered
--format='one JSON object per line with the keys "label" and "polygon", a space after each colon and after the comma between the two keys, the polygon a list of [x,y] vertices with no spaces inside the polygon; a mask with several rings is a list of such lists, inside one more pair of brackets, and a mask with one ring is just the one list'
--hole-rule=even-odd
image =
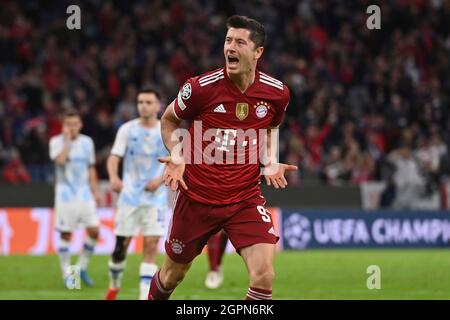
{"label": "light blue and white jersey of the player with arms lowered", "polygon": [[145,128],[134,119],[118,130],[111,154],[123,158],[123,188],[118,205],[167,206],[167,188],[161,184],[155,192],[145,190],[151,180],[164,173],[165,165],[158,161],[167,156],[161,138],[161,123]]}

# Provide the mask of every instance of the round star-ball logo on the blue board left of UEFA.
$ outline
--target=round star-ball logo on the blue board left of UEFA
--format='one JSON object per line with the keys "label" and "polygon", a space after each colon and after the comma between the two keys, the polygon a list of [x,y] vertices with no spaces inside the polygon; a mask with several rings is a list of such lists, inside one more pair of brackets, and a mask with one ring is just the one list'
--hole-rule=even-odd
{"label": "round star-ball logo on the blue board left of UEFA", "polygon": [[291,248],[305,248],[311,240],[311,224],[309,219],[299,213],[291,214],[284,220],[283,233]]}

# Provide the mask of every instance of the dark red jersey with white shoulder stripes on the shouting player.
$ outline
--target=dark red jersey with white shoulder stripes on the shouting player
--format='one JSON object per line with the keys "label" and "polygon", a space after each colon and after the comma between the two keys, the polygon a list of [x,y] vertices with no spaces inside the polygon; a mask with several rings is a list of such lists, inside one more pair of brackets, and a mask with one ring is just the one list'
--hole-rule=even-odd
{"label": "dark red jersey with white shoulder stripes on the shouting player", "polygon": [[[186,139],[183,144],[190,150],[184,173],[188,190],[183,192],[192,201],[212,205],[259,197],[260,164],[254,158],[255,147],[257,156],[266,143],[259,138],[259,129],[277,127],[288,103],[287,86],[259,70],[244,93],[224,68],[186,81],[174,103],[176,116],[190,121],[191,141]],[[201,134],[194,130],[200,123]]]}

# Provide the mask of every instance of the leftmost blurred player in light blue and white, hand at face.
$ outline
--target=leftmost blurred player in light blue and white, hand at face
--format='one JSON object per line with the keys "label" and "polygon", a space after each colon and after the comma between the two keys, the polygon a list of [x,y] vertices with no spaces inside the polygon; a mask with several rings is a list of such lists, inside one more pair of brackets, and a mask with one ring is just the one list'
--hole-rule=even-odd
{"label": "leftmost blurred player in light blue and white, hand at face", "polygon": [[87,237],[78,259],[81,280],[93,285],[87,273],[89,259],[98,238],[99,199],[95,171],[95,148],[92,139],[80,134],[81,117],[76,110],[64,115],[62,133],[50,140],[50,158],[55,162],[55,228],[61,233],[58,256],[63,278],[70,266],[70,238],[79,225],[86,227]]}

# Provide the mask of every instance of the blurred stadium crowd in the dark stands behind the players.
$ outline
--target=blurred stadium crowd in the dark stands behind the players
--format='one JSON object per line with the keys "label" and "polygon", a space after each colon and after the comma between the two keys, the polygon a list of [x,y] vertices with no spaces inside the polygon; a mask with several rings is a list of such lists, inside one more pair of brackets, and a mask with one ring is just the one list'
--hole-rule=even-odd
{"label": "blurred stadium crowd in the dark stands behind the players", "polygon": [[448,0],[384,1],[381,30],[366,27],[372,1],[90,0],[71,31],[72,2],[0,0],[0,181],[52,182],[48,141],[71,106],[106,178],[136,90],[155,87],[166,105],[188,77],[223,65],[234,13],[266,26],[259,67],[292,92],[280,133],[282,161],[301,168],[291,184],[432,188],[449,172]]}

